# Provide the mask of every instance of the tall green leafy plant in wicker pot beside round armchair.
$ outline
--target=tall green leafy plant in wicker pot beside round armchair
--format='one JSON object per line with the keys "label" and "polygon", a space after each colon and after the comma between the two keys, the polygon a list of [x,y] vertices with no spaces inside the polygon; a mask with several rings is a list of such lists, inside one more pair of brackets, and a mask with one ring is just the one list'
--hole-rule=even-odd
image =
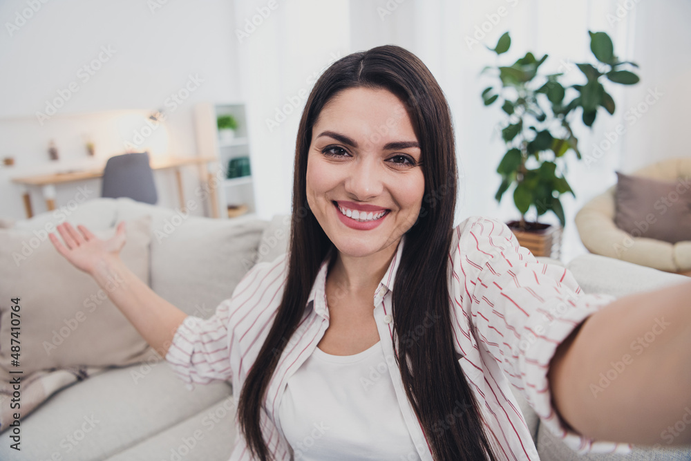
{"label": "tall green leafy plant in wicker pot beside round armchair", "polygon": [[[573,151],[580,160],[578,139],[571,124],[580,120],[592,127],[598,112],[614,114],[612,95],[603,82],[631,85],[638,75],[628,70],[638,67],[620,61],[614,55],[612,39],[605,32],[588,32],[594,64],[576,64],[585,82],[565,85],[563,73],[541,74],[540,66],[547,55],[538,58],[528,52],[509,66],[487,66],[483,73],[491,73],[495,84],[482,91],[485,106],[499,104],[504,113],[501,122],[502,140],[507,151],[497,172],[502,182],[495,195],[500,202],[504,193],[513,189],[513,203],[520,219],[507,223],[518,236],[522,246],[536,256],[558,253],[560,233],[565,225],[562,194],[576,196],[566,179],[565,157]],[[509,32],[500,37],[496,55],[506,53],[511,46]],[[526,220],[529,211],[536,215],[534,222]],[[560,226],[539,223],[547,211],[553,212]]]}

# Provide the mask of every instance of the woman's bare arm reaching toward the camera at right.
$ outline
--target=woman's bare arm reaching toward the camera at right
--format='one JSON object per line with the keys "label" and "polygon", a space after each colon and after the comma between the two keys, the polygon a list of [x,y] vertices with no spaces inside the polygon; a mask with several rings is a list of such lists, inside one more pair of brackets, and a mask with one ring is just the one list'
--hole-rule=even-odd
{"label": "woman's bare arm reaching toward the camera at right", "polygon": [[562,419],[588,438],[691,444],[691,282],[591,314],[558,346],[549,383]]}

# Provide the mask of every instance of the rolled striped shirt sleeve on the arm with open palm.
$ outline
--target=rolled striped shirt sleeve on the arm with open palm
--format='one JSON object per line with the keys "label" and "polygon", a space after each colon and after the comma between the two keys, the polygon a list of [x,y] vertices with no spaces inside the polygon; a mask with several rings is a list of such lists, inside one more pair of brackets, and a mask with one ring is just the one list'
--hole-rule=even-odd
{"label": "rolled striped shirt sleeve on the arm with open palm", "polygon": [[238,298],[255,288],[258,272],[267,265],[254,265],[240,280],[232,297],[218,305],[214,315],[208,319],[188,316],[178,326],[165,359],[178,378],[187,383],[189,390],[194,388],[194,384],[227,381],[233,377],[229,335],[231,316],[238,305]]}

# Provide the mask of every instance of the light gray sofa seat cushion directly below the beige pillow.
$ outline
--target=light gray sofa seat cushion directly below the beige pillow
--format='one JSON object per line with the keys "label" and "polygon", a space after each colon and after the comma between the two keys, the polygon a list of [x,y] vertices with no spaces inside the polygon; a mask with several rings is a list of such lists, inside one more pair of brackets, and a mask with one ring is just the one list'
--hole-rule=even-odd
{"label": "light gray sofa seat cushion directly below the beige pillow", "polygon": [[[230,394],[220,381],[189,391],[160,360],[111,368],[53,395],[22,420],[21,451],[10,449],[9,431],[0,434],[0,460],[104,460]],[[149,459],[168,460],[170,453]]]}

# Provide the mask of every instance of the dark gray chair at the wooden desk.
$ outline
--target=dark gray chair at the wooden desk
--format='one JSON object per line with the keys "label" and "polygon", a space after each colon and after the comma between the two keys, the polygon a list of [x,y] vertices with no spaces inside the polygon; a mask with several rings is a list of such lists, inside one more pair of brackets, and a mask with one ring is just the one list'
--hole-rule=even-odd
{"label": "dark gray chair at the wooden desk", "polygon": [[125,153],[108,159],[103,171],[102,197],[129,197],[155,205],[158,201],[149,153]]}

